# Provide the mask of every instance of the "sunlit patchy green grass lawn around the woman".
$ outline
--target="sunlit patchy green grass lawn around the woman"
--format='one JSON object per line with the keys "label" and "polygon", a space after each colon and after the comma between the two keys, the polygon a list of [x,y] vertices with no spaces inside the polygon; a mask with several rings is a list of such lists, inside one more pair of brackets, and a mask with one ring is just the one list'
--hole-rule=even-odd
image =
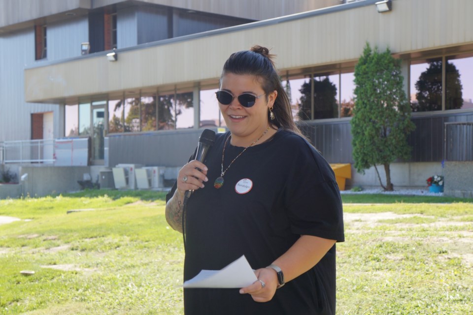
{"label": "sunlit patchy green grass lawn around the woman", "polygon": [[[337,314],[472,314],[473,200],[342,198]],[[0,200],[21,219],[0,225],[0,314],[182,314],[182,236],[164,206],[151,191]]]}

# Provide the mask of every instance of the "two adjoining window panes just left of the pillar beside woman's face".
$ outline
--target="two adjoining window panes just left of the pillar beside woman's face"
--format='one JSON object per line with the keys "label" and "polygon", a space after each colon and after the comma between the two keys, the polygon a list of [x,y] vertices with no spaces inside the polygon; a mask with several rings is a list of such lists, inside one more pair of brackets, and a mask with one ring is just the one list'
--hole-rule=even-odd
{"label": "two adjoining window panes just left of the pillar beside woman's face", "polygon": [[193,93],[159,95],[158,129],[191,128],[194,126]]}

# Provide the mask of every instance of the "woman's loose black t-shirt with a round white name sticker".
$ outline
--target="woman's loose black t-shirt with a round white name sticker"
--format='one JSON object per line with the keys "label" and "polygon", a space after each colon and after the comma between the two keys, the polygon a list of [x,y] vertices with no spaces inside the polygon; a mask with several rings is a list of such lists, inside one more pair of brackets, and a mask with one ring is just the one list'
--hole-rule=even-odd
{"label": "woman's loose black t-shirt with a round white name sticker", "polygon": [[[344,241],[342,204],[326,160],[301,136],[279,130],[270,141],[236,158],[215,189],[229,133],[219,134],[207,154],[208,182],[187,204],[184,280],[202,269],[219,270],[245,255],[264,268],[300,237]],[[224,170],[243,151],[227,143]],[[176,189],[168,194],[168,199]],[[335,314],[335,245],[311,270],[254,302],[238,289],[184,289],[186,315]]]}

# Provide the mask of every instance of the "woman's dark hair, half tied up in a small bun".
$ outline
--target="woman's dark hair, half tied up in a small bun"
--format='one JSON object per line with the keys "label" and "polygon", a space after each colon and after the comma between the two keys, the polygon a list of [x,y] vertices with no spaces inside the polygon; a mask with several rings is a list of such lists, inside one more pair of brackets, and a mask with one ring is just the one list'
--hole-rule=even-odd
{"label": "woman's dark hair, half tied up in a small bun", "polygon": [[[268,111],[268,121],[278,128],[291,130],[302,135],[301,130],[294,123],[291,102],[282,87],[272,61],[273,57],[274,55],[270,55],[268,48],[262,46],[253,46],[250,50],[233,53],[223,65],[220,80],[226,73],[249,74],[260,78],[263,81],[262,88],[265,93],[277,91],[272,108],[275,119],[270,120],[270,112]],[[268,95],[266,95],[266,100],[268,101]]]}

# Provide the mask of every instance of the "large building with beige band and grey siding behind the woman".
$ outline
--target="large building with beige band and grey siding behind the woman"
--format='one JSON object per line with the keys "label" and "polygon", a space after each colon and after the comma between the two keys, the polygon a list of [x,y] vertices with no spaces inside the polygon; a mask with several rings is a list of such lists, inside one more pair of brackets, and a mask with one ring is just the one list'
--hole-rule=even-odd
{"label": "large building with beige band and grey siding behind the woman", "polygon": [[[395,188],[444,174],[446,192],[471,195],[473,109],[463,100],[473,98],[473,2],[392,0],[385,12],[375,2],[1,0],[0,159],[13,165],[12,141],[69,148],[78,139],[75,162],[62,156],[68,150],[39,150],[43,163],[83,165],[93,178],[120,163],[180,166],[201,126],[223,126],[212,96],[224,61],[260,44],[277,55],[315,146],[331,163],[350,163],[353,71],[369,42],[402,59],[415,111],[412,158],[393,164]],[[313,96],[327,86],[337,91],[330,104]],[[353,175],[348,186],[378,185],[372,170]]]}

